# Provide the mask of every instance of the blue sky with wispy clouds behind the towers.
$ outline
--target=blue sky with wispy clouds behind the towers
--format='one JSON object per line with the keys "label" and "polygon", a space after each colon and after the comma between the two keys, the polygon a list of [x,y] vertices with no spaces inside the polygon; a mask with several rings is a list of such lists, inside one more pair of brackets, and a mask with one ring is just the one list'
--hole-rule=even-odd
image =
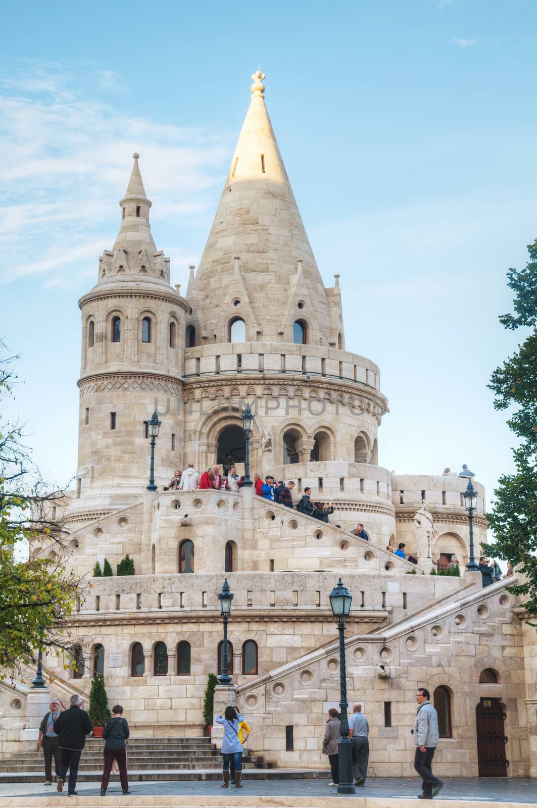
{"label": "blue sky with wispy clouds behind the towers", "polygon": [[[508,267],[537,236],[533,0],[11,3],[0,55],[0,334],[9,410],[49,478],[76,469],[78,297],[139,151],[172,282],[197,264],[260,63],[346,343],[381,368],[379,461],[466,462],[492,494],[512,436],[486,388],[522,334]],[[185,290],[184,286],[184,290]]]}

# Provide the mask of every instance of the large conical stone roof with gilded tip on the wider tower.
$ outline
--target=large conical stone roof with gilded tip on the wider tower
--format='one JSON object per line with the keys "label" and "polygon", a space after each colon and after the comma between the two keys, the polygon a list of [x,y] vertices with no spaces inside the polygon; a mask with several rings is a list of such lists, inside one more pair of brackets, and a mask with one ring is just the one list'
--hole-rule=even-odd
{"label": "large conical stone roof with gilded tip on the wider tower", "polygon": [[[226,322],[236,314],[247,321],[247,341],[292,342],[293,320],[301,317],[308,342],[328,345],[326,293],[264,103],[264,74],[258,70],[252,79],[250,107],[188,297],[205,339],[226,341]],[[240,305],[228,312],[235,295]]]}

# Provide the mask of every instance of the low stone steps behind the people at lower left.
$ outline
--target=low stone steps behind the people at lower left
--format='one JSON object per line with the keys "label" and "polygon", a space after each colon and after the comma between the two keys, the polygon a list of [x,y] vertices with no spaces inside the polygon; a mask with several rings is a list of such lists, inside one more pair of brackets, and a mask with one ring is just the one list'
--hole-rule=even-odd
{"label": "low stone steps behind the people at lower left", "polygon": [[[88,739],[80,766],[78,781],[100,781],[103,773],[104,740]],[[210,738],[133,738],[129,739],[129,781],[216,779],[222,770],[222,758]],[[261,756],[243,754],[243,769],[274,768]],[[263,776],[263,775],[260,775]],[[266,776],[266,774],[264,775]],[[119,780],[112,775],[112,781]],[[43,752],[19,752],[0,760],[0,783],[35,783],[44,781]]]}

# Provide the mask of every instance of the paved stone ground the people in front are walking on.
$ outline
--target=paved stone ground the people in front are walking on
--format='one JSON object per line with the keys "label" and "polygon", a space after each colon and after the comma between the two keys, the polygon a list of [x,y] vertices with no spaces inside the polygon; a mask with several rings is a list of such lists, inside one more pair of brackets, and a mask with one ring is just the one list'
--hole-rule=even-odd
{"label": "paved stone ground the people in front are walking on", "polygon": [[[489,800],[490,802],[519,802],[524,805],[537,805],[537,779],[507,777],[465,777],[446,778],[446,785],[437,798],[442,802],[450,800],[464,800],[471,802]],[[168,782],[132,782],[130,784],[133,794],[137,796],[160,795],[214,795],[222,797],[222,794],[232,795],[235,789],[229,792],[222,792],[220,785],[215,781],[168,781]],[[95,783],[80,783],[77,786],[78,793],[82,796],[99,794],[99,785]],[[408,777],[398,780],[395,777],[371,777],[363,788],[356,789],[357,797],[416,797],[420,793],[420,781],[417,777]],[[43,786],[40,784],[30,785],[23,783],[0,785],[0,806],[2,797],[35,797],[53,796],[56,788]],[[121,795],[119,784],[112,784],[108,789],[108,795]],[[328,785],[326,780],[252,780],[245,781],[244,788],[238,794],[243,797],[338,797],[337,789]],[[64,802],[61,796],[58,800]],[[227,802],[227,801],[226,801]],[[233,804],[232,798],[229,800]],[[23,803],[21,802],[21,805]]]}

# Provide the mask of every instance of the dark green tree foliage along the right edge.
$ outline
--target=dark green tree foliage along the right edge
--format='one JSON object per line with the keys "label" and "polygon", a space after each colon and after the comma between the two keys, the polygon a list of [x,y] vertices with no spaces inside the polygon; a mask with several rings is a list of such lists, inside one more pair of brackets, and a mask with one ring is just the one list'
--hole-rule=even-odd
{"label": "dark green tree foliage along the right edge", "polygon": [[519,440],[514,449],[514,474],[504,474],[494,490],[493,510],[487,514],[494,534],[489,553],[510,561],[526,583],[510,587],[526,595],[526,608],[537,614],[537,240],[528,245],[530,260],[521,271],[510,269],[508,286],[514,290],[514,312],[500,322],[514,330],[531,329],[518,351],[493,372],[488,387],[497,410],[510,410],[507,423]]}

